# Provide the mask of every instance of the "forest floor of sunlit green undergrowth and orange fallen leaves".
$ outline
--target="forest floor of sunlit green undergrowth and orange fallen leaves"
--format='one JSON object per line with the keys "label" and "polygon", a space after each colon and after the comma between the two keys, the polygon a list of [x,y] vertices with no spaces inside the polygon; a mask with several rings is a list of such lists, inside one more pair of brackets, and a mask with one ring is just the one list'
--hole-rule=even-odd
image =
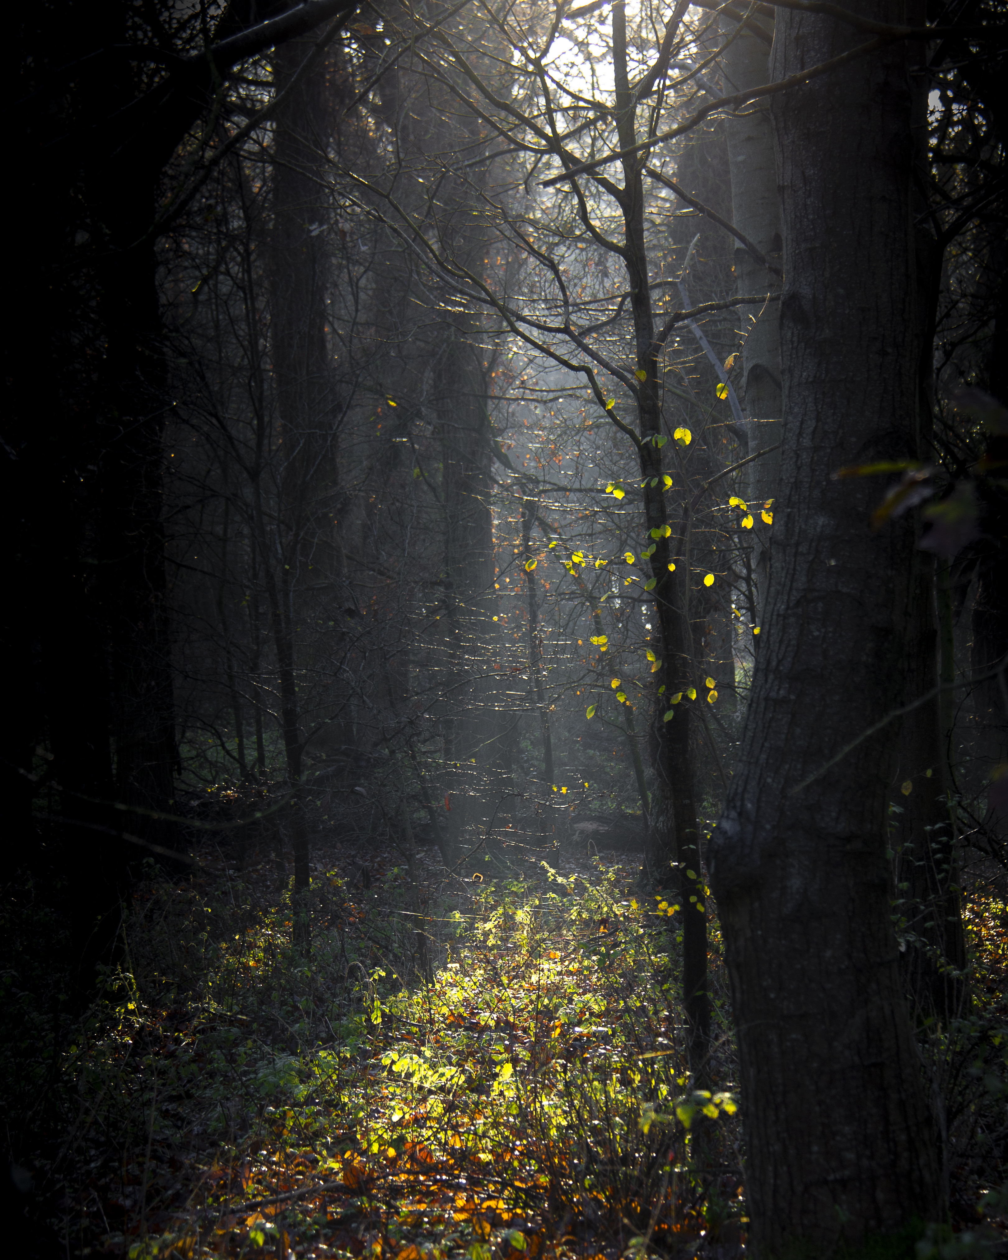
{"label": "forest floor of sunlit green undergrowth and orange fallen leaves", "polygon": [[[394,848],[368,868],[349,845],[319,856],[309,958],[282,864],[237,869],[207,843],[192,876],[147,864],[69,1038],[44,951],[4,976],[20,1013],[5,1113],[23,1147],[47,1138],[25,1153],[53,1254],[745,1255],[713,902],[699,1090],[675,997],[683,911],[640,891],[633,856],[514,845],[450,874],[421,854],[416,878]],[[30,897],[5,919],[21,944],[58,940]],[[971,1008],[919,1029],[960,1232],[932,1230],[921,1256],[993,1255],[1008,1206],[1008,907],[974,896],[965,922]]]}

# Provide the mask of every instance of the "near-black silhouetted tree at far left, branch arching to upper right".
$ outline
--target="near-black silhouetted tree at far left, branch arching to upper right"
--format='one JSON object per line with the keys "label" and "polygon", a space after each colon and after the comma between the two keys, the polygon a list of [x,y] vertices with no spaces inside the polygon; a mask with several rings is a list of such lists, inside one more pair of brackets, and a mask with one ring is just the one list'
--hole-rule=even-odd
{"label": "near-black silhouetted tree at far left, branch arching to upper right", "polygon": [[[34,750],[48,746],[84,990],[115,941],[130,861],[179,839],[156,241],[215,134],[193,129],[237,68],[350,11],[343,0],[258,14],[236,3],[212,30],[203,10],[107,5],[96,20],[84,6],[43,6],[18,29],[26,180],[13,285],[24,319],[6,345],[3,498],[19,563],[4,641],[37,660],[44,683],[20,684],[5,760],[29,784]],[[52,582],[39,600],[43,568]],[[33,852],[30,791],[16,795]]]}

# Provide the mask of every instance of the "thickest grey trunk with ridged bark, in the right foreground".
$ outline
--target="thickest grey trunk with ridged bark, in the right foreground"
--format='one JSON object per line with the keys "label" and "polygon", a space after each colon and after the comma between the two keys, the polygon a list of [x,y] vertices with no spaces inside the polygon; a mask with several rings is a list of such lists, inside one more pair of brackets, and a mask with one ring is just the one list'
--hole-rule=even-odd
{"label": "thickest grey trunk with ridged bark, in the right foreground", "polygon": [[[886,0],[871,16],[900,21],[901,8]],[[779,10],[774,74],[858,39],[830,18]],[[859,1247],[941,1210],[886,868],[898,724],[885,718],[906,697],[914,524],[873,532],[877,483],[832,476],[915,446],[906,49],[780,94],[772,112],[780,501],[752,702],[709,854],[764,1260]]]}

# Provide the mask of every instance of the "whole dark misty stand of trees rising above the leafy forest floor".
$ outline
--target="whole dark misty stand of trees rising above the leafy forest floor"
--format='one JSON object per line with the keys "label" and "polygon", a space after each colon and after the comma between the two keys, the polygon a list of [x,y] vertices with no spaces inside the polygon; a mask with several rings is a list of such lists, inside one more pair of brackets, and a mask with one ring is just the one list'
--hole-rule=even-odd
{"label": "whole dark misty stand of trees rising above the leafy forest floor", "polygon": [[1007,856],[999,16],[19,14],[9,869],[68,1009],[207,832],[307,956],[324,832],[620,811],[701,1085],[717,898],[761,1254],[934,1217],[911,1009]]}

